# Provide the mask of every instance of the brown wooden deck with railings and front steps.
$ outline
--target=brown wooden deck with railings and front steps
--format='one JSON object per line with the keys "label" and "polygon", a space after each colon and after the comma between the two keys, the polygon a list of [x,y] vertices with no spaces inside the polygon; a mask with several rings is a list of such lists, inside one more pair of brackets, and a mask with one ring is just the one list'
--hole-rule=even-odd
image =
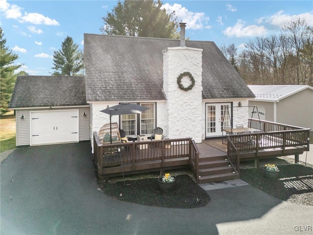
{"label": "brown wooden deck with railings and front steps", "polygon": [[94,132],[94,161],[101,177],[189,168],[197,183],[235,179],[240,161],[253,159],[256,167],[262,158],[295,155],[297,161],[309,150],[310,129],[274,124],[249,119],[249,126],[261,132],[228,135],[227,152],[190,138],[101,144]]}

